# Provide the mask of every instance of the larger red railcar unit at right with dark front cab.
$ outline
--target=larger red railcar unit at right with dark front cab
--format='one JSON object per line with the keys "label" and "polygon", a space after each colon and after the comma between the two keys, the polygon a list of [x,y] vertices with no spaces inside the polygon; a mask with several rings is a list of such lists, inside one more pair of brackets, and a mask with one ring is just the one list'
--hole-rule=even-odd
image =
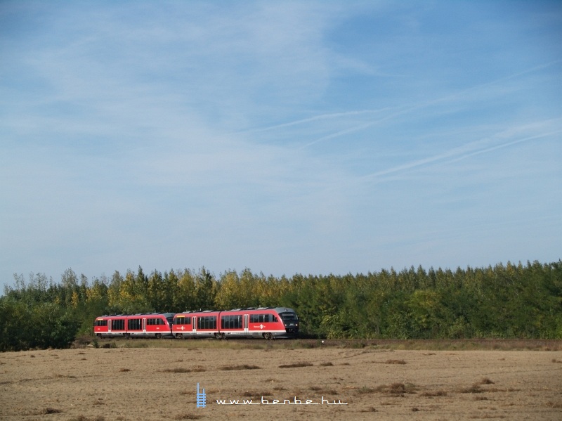
{"label": "larger red railcar unit at right with dark front cab", "polygon": [[185,311],[174,316],[172,334],[186,337],[296,337],[299,318],[285,307],[250,307],[228,311]]}

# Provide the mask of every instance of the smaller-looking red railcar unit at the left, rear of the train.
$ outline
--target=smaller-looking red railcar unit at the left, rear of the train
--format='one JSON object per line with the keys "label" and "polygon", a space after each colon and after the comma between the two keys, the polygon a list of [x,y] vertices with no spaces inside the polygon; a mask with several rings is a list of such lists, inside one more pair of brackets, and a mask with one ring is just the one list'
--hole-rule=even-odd
{"label": "smaller-looking red railcar unit at the left, rear of the train", "polygon": [[96,318],[93,332],[98,337],[172,337],[174,313],[112,314]]}

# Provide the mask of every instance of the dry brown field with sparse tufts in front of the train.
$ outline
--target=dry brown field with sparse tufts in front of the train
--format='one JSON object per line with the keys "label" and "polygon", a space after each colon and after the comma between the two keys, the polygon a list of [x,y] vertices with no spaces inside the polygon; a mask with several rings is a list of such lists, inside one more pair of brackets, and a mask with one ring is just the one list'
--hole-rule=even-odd
{"label": "dry brown field with sparse tufts in front of the train", "polygon": [[171,346],[0,354],[0,420],[558,421],[561,391],[562,351]]}

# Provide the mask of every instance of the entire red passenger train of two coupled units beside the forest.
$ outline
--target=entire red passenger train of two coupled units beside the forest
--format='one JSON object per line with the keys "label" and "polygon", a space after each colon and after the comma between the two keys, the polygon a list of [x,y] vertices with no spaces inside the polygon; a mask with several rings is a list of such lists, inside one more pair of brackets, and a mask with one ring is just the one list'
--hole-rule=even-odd
{"label": "entire red passenger train of two coupled units beside the forest", "polygon": [[98,337],[296,337],[299,318],[285,307],[253,307],[228,311],[185,311],[100,316],[94,322]]}

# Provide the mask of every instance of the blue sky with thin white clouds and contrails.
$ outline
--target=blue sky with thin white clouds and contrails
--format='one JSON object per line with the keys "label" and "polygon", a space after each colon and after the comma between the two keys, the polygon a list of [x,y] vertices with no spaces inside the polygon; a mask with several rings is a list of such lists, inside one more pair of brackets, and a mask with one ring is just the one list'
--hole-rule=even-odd
{"label": "blue sky with thin white clouds and contrails", "polygon": [[561,1],[0,1],[0,283],[562,258]]}

